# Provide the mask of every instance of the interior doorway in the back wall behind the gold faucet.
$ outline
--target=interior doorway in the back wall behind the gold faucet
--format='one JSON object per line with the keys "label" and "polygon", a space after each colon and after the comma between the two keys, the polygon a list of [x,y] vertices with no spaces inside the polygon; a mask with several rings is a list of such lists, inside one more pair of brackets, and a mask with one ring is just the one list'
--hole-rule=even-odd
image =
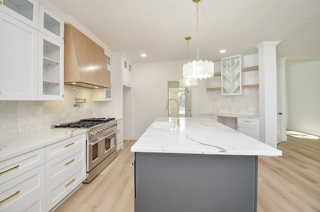
{"label": "interior doorway in the back wall behind the gold faucet", "polygon": [[[180,117],[191,117],[191,88],[179,87],[179,81],[168,81],[167,96],[175,98],[179,101],[179,115]],[[175,101],[170,101],[168,105],[168,117],[177,116],[177,104]]]}

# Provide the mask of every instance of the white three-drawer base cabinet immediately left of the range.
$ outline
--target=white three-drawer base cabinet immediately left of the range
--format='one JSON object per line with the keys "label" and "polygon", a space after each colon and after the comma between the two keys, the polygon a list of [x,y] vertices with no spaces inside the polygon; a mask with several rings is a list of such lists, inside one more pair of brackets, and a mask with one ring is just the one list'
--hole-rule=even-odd
{"label": "white three-drawer base cabinet immediately left of the range", "polygon": [[45,146],[46,205],[50,210],[85,179],[85,133]]}

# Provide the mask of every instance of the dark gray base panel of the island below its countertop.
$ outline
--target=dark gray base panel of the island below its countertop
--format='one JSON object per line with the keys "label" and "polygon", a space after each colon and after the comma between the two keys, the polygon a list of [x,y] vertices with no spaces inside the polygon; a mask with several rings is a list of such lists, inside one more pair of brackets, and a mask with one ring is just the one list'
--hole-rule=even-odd
{"label": "dark gray base panel of the island below its countertop", "polygon": [[134,155],[136,212],[256,211],[257,156]]}

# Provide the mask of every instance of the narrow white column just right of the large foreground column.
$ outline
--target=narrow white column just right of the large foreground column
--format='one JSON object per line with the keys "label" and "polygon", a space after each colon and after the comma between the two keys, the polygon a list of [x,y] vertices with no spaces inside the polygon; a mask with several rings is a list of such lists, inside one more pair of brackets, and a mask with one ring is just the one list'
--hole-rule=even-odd
{"label": "narrow white column just right of the large foreground column", "polygon": [[285,83],[285,60],[287,57],[280,57],[280,105],[281,105],[281,141],[286,141],[286,83]]}

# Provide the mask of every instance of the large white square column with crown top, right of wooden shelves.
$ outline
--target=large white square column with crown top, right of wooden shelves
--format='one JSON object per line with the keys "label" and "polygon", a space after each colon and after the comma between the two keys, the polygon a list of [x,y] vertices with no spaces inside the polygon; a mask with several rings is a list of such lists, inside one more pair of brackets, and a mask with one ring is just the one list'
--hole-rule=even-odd
{"label": "large white square column with crown top, right of wooden shelves", "polygon": [[262,41],[258,48],[260,141],[276,148],[276,49],[280,41]]}

